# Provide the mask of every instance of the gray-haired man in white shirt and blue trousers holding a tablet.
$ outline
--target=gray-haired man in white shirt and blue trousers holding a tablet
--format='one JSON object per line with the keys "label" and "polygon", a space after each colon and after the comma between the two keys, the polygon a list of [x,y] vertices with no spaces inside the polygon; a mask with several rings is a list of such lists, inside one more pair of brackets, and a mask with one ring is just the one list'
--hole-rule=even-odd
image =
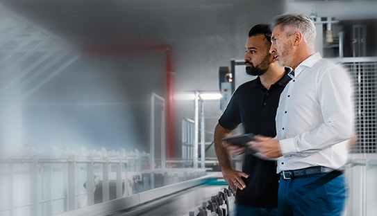
{"label": "gray-haired man in white shirt and blue trousers holding a tablet", "polygon": [[340,66],[315,53],[315,25],[305,15],[274,20],[270,53],[290,66],[280,95],[276,137],[249,143],[277,158],[279,215],[341,215],[346,198],[342,166],[353,136],[351,82]]}

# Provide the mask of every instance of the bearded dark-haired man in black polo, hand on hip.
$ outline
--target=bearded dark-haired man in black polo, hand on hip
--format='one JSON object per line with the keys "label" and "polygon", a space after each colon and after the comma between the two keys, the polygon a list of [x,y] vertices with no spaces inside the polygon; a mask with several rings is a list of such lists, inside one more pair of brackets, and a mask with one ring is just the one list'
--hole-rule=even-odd
{"label": "bearded dark-haired man in black polo, hand on hip", "polygon": [[237,215],[277,215],[279,177],[276,174],[276,161],[246,154],[243,172],[239,172],[232,168],[229,150],[240,154],[244,149],[233,148],[221,141],[231,136],[240,123],[245,133],[276,135],[278,100],[290,77],[288,71],[279,66],[274,55],[269,53],[270,46],[271,30],[268,25],[251,28],[244,60],[246,73],[258,77],[237,88],[215,128],[215,150],[221,172],[232,190],[237,190]]}

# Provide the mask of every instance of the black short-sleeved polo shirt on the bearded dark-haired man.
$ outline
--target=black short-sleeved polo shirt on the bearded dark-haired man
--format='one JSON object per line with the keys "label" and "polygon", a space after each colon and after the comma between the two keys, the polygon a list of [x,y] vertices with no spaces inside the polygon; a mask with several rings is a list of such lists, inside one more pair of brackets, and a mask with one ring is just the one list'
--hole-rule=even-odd
{"label": "black short-sleeved polo shirt on the bearded dark-haired man", "polygon": [[[269,90],[263,87],[259,77],[240,85],[219,118],[219,124],[233,130],[242,123],[246,134],[275,137],[280,93],[290,80],[285,73]],[[276,174],[276,161],[246,154],[242,170],[249,177],[244,179],[246,188],[237,189],[236,203],[254,208],[277,208],[279,175]]]}

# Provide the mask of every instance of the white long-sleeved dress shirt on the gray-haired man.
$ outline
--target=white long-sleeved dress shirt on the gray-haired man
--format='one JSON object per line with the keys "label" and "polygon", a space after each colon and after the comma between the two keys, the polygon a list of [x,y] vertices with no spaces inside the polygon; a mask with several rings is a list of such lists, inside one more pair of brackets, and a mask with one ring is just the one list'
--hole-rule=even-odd
{"label": "white long-sleeved dress shirt on the gray-haired man", "polygon": [[283,153],[278,173],[315,165],[342,167],[347,140],[353,136],[351,82],[346,71],[319,53],[301,62],[280,95],[276,133]]}

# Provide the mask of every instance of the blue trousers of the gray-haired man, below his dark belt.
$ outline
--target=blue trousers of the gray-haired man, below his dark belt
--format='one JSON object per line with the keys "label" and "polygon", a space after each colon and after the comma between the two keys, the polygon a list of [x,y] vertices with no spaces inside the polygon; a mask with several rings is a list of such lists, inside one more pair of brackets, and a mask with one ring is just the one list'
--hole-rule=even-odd
{"label": "blue trousers of the gray-haired man, below his dark belt", "polygon": [[278,212],[281,216],[342,215],[345,201],[346,183],[341,172],[296,179],[280,177]]}

